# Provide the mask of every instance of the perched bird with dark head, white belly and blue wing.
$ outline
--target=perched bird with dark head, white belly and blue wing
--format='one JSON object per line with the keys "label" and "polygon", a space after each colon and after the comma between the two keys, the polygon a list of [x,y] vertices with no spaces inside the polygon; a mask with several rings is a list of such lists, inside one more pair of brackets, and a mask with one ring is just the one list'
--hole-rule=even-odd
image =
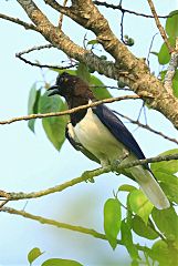
{"label": "perched bird with dark head, white belly and blue wing", "polygon": [[[97,101],[85,81],[67,72],[59,74],[55,84],[49,91],[49,96],[63,96],[69,109]],[[102,167],[145,158],[132,133],[105,104],[71,113],[65,135],[75,150]],[[123,172],[138,183],[156,208],[165,209],[170,206],[148,164],[125,168]]]}

